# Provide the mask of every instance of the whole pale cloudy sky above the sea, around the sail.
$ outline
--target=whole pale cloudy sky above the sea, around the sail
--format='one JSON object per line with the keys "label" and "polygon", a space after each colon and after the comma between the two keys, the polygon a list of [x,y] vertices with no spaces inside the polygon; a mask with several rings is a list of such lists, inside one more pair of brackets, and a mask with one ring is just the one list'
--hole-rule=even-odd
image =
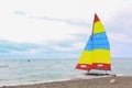
{"label": "whole pale cloudy sky above the sea, around the sail", "polygon": [[0,0],[0,58],[79,58],[95,12],[111,57],[132,57],[132,0]]}

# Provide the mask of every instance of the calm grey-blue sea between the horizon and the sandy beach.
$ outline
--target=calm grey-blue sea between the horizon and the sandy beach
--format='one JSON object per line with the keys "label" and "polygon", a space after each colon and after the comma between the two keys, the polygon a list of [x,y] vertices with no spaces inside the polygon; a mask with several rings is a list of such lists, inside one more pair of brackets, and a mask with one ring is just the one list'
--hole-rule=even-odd
{"label": "calm grey-blue sea between the horizon and the sandy beach", "polygon": [[[86,74],[85,70],[75,69],[77,61],[76,58],[0,59],[0,86],[50,82],[82,76]],[[112,70],[108,73],[132,76],[132,58],[112,58],[111,65]]]}

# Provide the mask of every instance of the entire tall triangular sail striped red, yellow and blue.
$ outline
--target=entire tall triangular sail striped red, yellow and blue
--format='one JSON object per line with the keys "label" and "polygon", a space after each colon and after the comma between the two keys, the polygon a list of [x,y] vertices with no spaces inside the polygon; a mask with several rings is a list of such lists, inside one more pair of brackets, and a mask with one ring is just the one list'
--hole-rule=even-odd
{"label": "entire tall triangular sail striped red, yellow and blue", "polygon": [[76,68],[111,70],[109,41],[105,28],[96,13],[91,36],[81,53]]}

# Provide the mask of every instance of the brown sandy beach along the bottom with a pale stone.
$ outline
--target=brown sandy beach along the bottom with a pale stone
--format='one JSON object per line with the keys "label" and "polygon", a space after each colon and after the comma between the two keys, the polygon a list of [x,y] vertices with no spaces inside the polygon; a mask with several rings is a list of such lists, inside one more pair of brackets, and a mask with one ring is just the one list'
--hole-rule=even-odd
{"label": "brown sandy beach along the bottom with a pale stone", "polygon": [[34,85],[3,86],[0,88],[132,88],[132,76],[73,79]]}

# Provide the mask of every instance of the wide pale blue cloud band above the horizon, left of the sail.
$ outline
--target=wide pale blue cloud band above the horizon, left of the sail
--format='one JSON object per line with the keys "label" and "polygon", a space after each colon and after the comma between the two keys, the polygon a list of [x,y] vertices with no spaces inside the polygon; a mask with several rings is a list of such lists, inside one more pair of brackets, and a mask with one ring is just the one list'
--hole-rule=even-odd
{"label": "wide pale blue cloud band above the horizon, left of the sail", "polygon": [[[0,41],[0,58],[61,58],[76,57],[80,48],[76,48],[77,43],[68,41],[52,42],[48,44],[14,43]],[[70,52],[69,52],[70,51]]]}

